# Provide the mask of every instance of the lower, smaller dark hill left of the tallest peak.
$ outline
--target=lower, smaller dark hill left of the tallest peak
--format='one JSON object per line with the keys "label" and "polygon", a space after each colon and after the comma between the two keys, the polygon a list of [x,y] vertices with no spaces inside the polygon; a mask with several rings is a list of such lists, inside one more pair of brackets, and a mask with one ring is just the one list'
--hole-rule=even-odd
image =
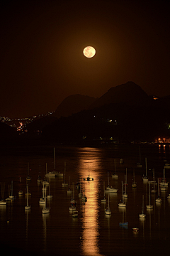
{"label": "lower, smaller dark hill left of the tallest peak", "polygon": [[66,97],[55,110],[55,117],[69,117],[74,113],[87,110],[89,106],[97,100],[95,97],[84,95],[70,95]]}

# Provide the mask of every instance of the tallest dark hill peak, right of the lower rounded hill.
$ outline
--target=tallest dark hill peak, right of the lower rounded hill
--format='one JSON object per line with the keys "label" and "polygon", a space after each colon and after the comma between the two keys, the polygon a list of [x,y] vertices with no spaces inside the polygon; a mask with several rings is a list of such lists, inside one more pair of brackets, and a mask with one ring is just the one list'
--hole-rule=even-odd
{"label": "tallest dark hill peak, right of the lower rounded hill", "polygon": [[93,102],[89,109],[94,109],[95,107],[101,107],[103,105],[109,105],[111,103],[136,105],[146,102],[148,99],[149,97],[147,93],[142,90],[139,85],[136,85],[135,82],[126,82],[123,85],[111,87],[108,92]]}

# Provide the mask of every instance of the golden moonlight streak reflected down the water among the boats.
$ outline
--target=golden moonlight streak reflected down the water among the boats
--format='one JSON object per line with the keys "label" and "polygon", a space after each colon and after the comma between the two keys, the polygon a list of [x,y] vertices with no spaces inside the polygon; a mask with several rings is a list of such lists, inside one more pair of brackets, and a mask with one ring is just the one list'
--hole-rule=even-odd
{"label": "golden moonlight streak reflected down the water among the boats", "polygon": [[[98,171],[100,168],[98,166],[99,159],[96,157],[92,159],[94,149],[85,149],[86,157],[85,159],[79,159],[79,175],[82,178],[90,176],[94,178],[94,181],[84,181],[82,191],[86,194],[87,202],[84,203],[84,207],[81,208],[81,223],[82,223],[82,242],[81,242],[81,253],[82,255],[101,255],[98,247],[99,240],[99,224],[98,224],[98,194],[99,186],[98,181],[100,181],[101,173]],[[90,159],[87,157],[90,156]]]}

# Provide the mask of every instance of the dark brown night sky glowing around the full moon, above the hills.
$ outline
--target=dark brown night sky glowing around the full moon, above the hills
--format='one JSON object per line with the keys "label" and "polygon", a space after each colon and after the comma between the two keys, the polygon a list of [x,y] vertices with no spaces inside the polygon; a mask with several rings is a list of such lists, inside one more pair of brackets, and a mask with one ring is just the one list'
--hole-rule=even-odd
{"label": "dark brown night sky glowing around the full moon, above the hills", "polygon": [[170,95],[168,2],[1,1],[0,116],[55,111],[128,81]]}

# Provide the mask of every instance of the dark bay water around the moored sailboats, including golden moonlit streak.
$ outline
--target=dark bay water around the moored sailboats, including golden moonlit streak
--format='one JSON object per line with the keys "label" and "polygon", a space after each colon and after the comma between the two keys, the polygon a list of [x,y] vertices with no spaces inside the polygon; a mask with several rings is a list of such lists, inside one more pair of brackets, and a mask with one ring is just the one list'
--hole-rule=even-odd
{"label": "dark bay water around the moored sailboats, including golden moonlit streak", "polygon": [[[1,149],[0,181],[1,198],[8,197],[9,186],[13,181],[13,195],[16,198],[7,201],[6,206],[0,206],[0,243],[1,250],[6,253],[17,252],[18,255],[156,255],[164,253],[170,242],[170,200],[167,199],[169,188],[160,193],[161,204],[155,203],[157,194],[151,196],[153,210],[147,210],[149,203],[149,185],[143,183],[145,174],[145,157],[147,157],[147,174],[153,180],[152,169],[155,170],[155,180],[163,177],[164,160],[169,159],[169,145],[141,145],[142,168],[137,168],[139,162],[139,145],[118,145],[101,148],[74,147],[55,145],[56,169],[64,173],[70,185],[81,180],[81,188],[87,196],[84,203],[79,197],[79,191],[74,188],[77,201],[78,218],[72,218],[69,211],[71,195],[67,195],[68,187],[62,187],[63,178],[50,178],[50,193],[52,199],[47,199],[50,213],[42,215],[39,198],[42,195],[42,184],[37,178],[40,171],[42,178],[47,170],[54,168],[53,145],[28,146]],[[120,165],[120,158],[124,164]],[[118,179],[111,177],[114,171],[114,159]],[[30,166],[31,181],[28,189],[30,210],[26,206],[26,176]],[[121,183],[128,174],[128,198],[124,209],[118,207],[122,198]],[[137,188],[132,188],[133,169]],[[169,170],[166,169],[166,180],[169,181]],[[110,194],[111,215],[105,214],[108,206],[103,198],[103,181],[108,186],[118,188],[118,193]],[[84,181],[90,175],[94,181]],[[152,188],[152,186],[151,186]],[[23,196],[18,191],[23,190]],[[156,186],[157,190],[157,186]],[[48,193],[48,190],[47,190]],[[144,212],[146,219],[140,220],[142,213],[142,195],[144,195]],[[128,221],[127,228],[121,228],[120,222]],[[139,228],[134,233],[132,228]],[[3,255],[3,254],[2,254]],[[5,255],[5,254],[4,254]]]}

